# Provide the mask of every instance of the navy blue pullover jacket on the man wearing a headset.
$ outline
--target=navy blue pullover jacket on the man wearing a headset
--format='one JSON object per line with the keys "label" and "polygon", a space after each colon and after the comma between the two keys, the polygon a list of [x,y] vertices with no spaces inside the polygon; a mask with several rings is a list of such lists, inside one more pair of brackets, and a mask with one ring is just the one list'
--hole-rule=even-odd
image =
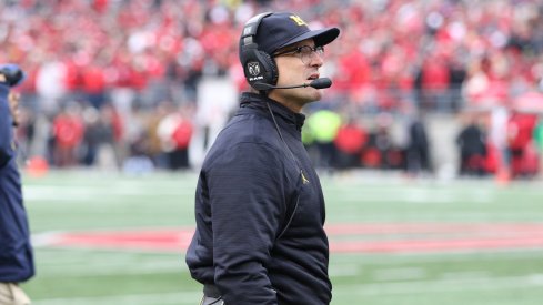
{"label": "navy blue pullover jacket on the man wearing a headset", "polygon": [[187,264],[227,305],[331,301],[324,199],[301,142],[303,121],[271,99],[243,93],[205,157]]}

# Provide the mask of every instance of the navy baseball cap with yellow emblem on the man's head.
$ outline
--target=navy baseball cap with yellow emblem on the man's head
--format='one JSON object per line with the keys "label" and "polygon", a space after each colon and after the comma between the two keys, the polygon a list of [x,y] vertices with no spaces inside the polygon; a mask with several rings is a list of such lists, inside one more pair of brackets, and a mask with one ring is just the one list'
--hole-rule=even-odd
{"label": "navy baseball cap with yellow emblem on the man's head", "polygon": [[312,38],[315,45],[325,45],[340,34],[338,28],[310,30],[298,14],[274,12],[262,19],[257,29],[255,42],[259,50],[273,54],[276,50]]}

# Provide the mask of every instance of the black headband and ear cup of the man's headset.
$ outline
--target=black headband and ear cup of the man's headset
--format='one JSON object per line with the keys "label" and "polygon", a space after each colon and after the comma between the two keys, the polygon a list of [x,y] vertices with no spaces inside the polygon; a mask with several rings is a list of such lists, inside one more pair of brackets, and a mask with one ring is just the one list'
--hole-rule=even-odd
{"label": "black headband and ear cup of the man's headset", "polygon": [[272,89],[279,79],[279,70],[275,60],[264,51],[259,50],[257,31],[262,19],[272,14],[263,12],[249,19],[243,26],[240,38],[240,61],[243,73],[249,84],[258,91]]}

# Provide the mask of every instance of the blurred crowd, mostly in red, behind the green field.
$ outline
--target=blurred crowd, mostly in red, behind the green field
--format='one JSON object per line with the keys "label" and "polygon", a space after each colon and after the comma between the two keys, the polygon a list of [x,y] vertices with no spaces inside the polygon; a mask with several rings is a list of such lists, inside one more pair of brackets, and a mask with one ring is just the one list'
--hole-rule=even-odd
{"label": "blurred crowd, mostly in red, behind the green field", "polygon": [[[430,152],[414,153],[428,148],[409,144],[429,145],[421,113],[484,113],[483,135],[495,109],[504,122],[533,118],[531,136],[541,124],[543,98],[521,99],[543,91],[537,0],[4,0],[0,62],[28,72],[19,135],[28,156],[59,167],[190,167],[199,84],[224,78],[248,89],[238,39],[244,21],[267,10],[342,30],[322,69],[334,84],[305,110],[338,115],[325,140],[310,122],[304,130],[322,166],[431,171]],[[396,118],[416,140],[384,136]],[[536,141],[530,145],[541,154]]]}

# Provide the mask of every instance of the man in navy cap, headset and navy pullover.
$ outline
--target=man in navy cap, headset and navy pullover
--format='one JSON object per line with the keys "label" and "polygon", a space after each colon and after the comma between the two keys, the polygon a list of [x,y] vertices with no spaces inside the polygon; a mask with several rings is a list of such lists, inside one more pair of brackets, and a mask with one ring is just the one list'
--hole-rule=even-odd
{"label": "man in navy cap, headset and navy pullover", "polygon": [[201,304],[330,303],[324,199],[300,111],[330,87],[319,79],[322,47],[339,33],[311,31],[293,13],[245,23],[240,61],[252,92],[210,149],[197,186],[187,264],[204,285]]}

